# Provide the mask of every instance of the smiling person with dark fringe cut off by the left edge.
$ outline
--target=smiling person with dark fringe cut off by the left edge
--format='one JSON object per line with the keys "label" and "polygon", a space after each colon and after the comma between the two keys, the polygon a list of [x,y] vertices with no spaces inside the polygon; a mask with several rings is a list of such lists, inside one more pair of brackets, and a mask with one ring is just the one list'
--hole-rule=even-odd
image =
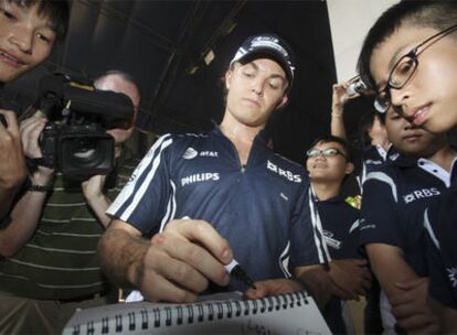
{"label": "smiling person with dark fringe cut off by the left edge", "polygon": [[[0,218],[26,177],[15,112],[2,87],[44,62],[54,43],[65,37],[70,8],[66,1],[0,0]],[[2,219],[2,225],[8,219]]]}

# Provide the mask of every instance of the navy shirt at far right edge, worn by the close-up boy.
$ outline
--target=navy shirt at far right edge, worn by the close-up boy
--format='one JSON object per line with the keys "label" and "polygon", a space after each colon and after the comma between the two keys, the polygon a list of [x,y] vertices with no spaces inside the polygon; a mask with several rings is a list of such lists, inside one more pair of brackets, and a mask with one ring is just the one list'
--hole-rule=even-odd
{"label": "navy shirt at far right edge, worn by the close-up boy", "polygon": [[429,294],[447,307],[457,309],[457,185],[429,205],[424,226]]}

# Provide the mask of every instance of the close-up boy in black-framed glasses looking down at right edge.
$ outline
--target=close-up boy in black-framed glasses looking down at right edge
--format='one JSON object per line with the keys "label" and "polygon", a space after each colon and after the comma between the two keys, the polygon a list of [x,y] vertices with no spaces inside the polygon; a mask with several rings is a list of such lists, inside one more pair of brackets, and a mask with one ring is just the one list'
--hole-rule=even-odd
{"label": "close-up boy in black-framed glasses looking down at right edge", "polygon": [[[455,128],[457,2],[403,1],[393,6],[365,37],[358,67],[374,89],[381,110],[392,108],[413,125],[435,133]],[[455,183],[455,161],[447,165]],[[427,246],[429,302],[438,312],[444,333],[457,332],[456,208],[457,186],[453,185],[421,219]],[[419,320],[416,316],[405,322],[412,326]]]}

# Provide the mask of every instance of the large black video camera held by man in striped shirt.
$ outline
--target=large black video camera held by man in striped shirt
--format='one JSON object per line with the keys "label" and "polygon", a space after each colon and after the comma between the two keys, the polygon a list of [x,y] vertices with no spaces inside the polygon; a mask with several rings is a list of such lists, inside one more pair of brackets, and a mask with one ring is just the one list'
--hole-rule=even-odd
{"label": "large black video camera held by man in striped shirt", "polygon": [[97,90],[92,82],[55,74],[40,80],[34,108],[49,120],[40,137],[41,163],[70,180],[108,174],[115,164],[114,139],[107,129],[129,128],[129,97]]}

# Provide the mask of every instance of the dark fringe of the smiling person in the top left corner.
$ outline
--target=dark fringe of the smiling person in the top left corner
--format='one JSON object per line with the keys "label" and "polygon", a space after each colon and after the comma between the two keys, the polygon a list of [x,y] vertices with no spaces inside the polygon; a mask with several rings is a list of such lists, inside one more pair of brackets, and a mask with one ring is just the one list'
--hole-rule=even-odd
{"label": "dark fringe of the smiling person in the top left corner", "polygon": [[70,3],[68,0],[7,0],[17,6],[30,8],[38,4],[38,14],[50,19],[56,42],[62,42],[68,30]]}

